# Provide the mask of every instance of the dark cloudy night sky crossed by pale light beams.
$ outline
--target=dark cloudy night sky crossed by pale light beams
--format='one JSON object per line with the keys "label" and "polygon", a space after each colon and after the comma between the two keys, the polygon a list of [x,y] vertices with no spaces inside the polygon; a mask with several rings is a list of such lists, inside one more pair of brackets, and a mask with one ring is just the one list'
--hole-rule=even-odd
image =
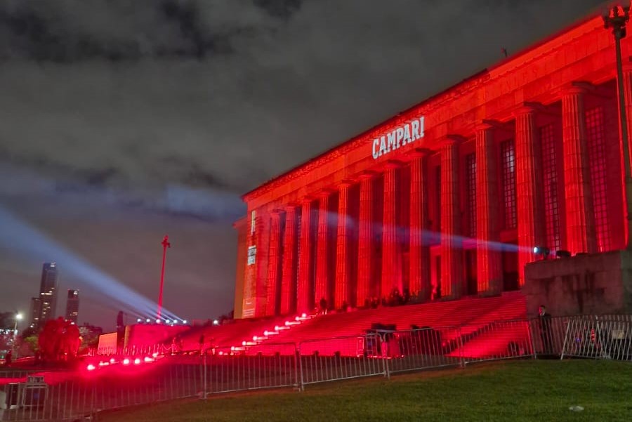
{"label": "dark cloudy night sky crossed by pale light beams", "polygon": [[0,311],[57,261],[112,328],[169,233],[166,308],[228,312],[240,194],[600,3],[0,0]]}

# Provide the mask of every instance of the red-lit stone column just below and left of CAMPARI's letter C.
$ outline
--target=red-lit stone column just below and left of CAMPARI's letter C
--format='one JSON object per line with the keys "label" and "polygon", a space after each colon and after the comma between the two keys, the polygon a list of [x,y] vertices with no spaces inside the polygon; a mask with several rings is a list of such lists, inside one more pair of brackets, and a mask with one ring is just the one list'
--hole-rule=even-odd
{"label": "red-lit stone column just below and left of CAMPARI's letter C", "polygon": [[374,253],[374,178],[375,173],[365,172],[360,175],[360,218],[357,239],[357,305],[364,306],[364,301],[371,300],[371,284],[375,280]]}

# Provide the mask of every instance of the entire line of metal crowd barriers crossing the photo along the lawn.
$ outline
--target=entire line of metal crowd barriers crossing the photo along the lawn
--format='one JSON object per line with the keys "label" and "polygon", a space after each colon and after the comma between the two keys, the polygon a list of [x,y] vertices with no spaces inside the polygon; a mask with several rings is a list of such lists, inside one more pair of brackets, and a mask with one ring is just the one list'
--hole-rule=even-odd
{"label": "entire line of metal crowd barriers crossing the photo along the lawn", "polygon": [[316,383],[495,360],[630,361],[632,316],[473,322],[300,343],[214,346],[202,352],[169,347],[129,352],[136,355],[92,357],[91,370],[0,370],[0,421],[74,421],[165,400],[265,388],[304,390]]}

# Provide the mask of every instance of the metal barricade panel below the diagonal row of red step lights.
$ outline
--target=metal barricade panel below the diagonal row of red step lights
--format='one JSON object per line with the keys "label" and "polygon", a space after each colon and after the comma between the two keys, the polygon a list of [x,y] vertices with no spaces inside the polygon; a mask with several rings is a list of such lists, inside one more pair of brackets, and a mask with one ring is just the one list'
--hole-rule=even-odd
{"label": "metal barricade panel below the diagonal row of red step lights", "polygon": [[296,344],[216,347],[203,355],[206,394],[298,387]]}

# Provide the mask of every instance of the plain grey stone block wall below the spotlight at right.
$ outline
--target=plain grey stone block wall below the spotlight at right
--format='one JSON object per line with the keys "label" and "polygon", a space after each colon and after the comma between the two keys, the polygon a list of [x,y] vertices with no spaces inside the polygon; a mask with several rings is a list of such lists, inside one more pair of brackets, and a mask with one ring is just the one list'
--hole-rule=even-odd
{"label": "plain grey stone block wall below the spotlight at right", "polygon": [[525,267],[527,315],[539,305],[553,316],[632,314],[632,253],[551,258]]}

